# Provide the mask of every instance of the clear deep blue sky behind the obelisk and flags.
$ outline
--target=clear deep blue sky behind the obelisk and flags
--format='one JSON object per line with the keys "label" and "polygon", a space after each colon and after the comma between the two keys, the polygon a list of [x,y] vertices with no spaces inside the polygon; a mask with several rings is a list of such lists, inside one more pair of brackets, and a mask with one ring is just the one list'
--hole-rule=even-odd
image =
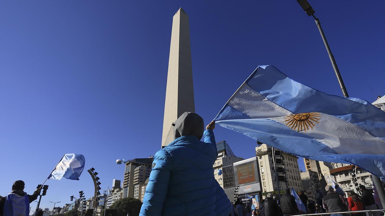
{"label": "clear deep blue sky behind the obelisk and flags", "polygon": [[[350,96],[385,94],[383,1],[315,1]],[[196,112],[209,123],[258,65],[341,95],[313,18],[291,1],[5,1],[0,5],[0,195],[32,193],[64,153],[83,154],[102,188],[123,180],[119,158],[161,146],[172,16],[189,15]],[[255,141],[217,126],[216,140],[249,158]],[[302,165],[303,166],[303,165]],[[70,203],[93,184],[47,181]],[[35,203],[32,204],[35,208]]]}

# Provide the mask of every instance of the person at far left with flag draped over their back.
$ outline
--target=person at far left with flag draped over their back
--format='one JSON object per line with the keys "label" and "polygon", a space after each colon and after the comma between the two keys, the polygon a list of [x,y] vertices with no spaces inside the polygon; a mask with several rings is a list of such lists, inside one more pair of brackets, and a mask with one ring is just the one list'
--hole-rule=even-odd
{"label": "person at far left with flag draped over their back", "polygon": [[41,188],[36,189],[32,195],[24,192],[25,183],[17,180],[12,185],[12,192],[0,198],[1,216],[28,216],[29,204],[40,194]]}

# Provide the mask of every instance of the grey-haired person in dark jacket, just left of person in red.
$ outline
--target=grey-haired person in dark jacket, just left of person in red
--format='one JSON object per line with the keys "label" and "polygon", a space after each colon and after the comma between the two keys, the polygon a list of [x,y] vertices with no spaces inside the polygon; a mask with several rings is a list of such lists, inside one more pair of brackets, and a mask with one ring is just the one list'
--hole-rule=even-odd
{"label": "grey-haired person in dark jacket, just left of person in red", "polygon": [[[328,213],[346,211],[346,206],[343,202],[341,194],[335,193],[330,185],[326,185],[327,194],[323,197],[323,208]],[[343,214],[330,214],[330,216],[343,216]]]}

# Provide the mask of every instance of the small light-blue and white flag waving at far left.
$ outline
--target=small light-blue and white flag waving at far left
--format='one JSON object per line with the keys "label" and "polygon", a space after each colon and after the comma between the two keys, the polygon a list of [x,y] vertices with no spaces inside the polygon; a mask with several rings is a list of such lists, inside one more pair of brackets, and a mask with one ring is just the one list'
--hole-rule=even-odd
{"label": "small light-blue and white flag waving at far left", "polygon": [[60,180],[64,177],[79,180],[79,176],[84,169],[84,164],[85,158],[83,155],[74,153],[65,154],[48,178]]}

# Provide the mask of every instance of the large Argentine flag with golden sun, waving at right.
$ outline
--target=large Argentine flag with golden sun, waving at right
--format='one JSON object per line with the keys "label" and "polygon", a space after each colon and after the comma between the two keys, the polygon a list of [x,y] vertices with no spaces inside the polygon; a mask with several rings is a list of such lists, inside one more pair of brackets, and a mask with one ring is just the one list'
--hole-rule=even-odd
{"label": "large Argentine flag with golden sun, waving at right", "polygon": [[272,65],[258,66],[214,120],[294,155],[385,176],[384,111],[317,91]]}

